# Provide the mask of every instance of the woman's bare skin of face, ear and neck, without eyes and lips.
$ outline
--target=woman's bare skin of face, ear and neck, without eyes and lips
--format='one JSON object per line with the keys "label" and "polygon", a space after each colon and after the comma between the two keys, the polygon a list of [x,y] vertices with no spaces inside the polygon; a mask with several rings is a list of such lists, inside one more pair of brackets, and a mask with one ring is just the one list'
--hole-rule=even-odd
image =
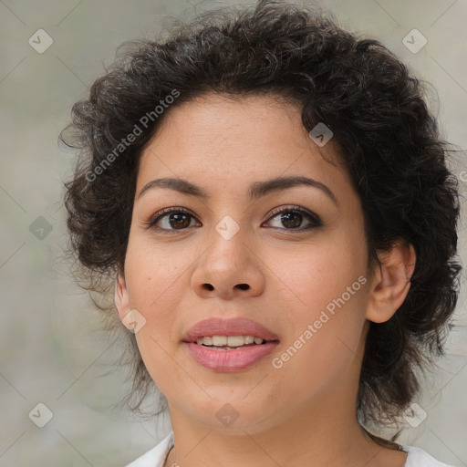
{"label": "woman's bare skin of face, ear and neck, without eyes and lips", "polygon": [[[338,164],[337,144],[330,140],[319,148],[291,104],[211,94],[168,112],[141,156],[115,292],[120,319],[130,309],[146,319],[135,336],[168,400],[174,432],[165,465],[308,467],[311,460],[315,467],[403,466],[404,451],[382,448],[359,427],[356,402],[369,321],[388,320],[407,296],[413,247],[394,244],[369,275],[358,194],[348,173],[321,155]],[[326,184],[338,206],[307,186],[248,199],[251,183],[289,175]],[[212,198],[202,201],[168,188],[138,197],[147,182],[161,177],[185,179]],[[324,225],[299,233],[294,222],[305,228],[313,221],[304,215],[287,223],[280,213],[270,214],[291,205],[315,213]],[[170,215],[158,225],[171,232],[145,228],[168,207],[192,213],[184,230],[169,222]],[[227,215],[240,228],[230,240],[215,230]],[[272,358],[360,275],[366,284],[283,368],[273,368]],[[203,368],[182,337],[206,317],[250,317],[273,330],[280,345],[241,372]],[[230,426],[216,417],[226,403],[238,413]]]}

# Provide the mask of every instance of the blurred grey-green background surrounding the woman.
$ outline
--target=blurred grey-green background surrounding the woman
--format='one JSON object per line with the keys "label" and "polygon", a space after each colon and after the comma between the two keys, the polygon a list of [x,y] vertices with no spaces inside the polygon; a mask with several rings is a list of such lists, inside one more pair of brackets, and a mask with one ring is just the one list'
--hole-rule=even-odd
{"label": "blurred grey-green background surrounding the woman", "polygon": [[[429,101],[442,136],[460,150],[450,165],[463,206],[467,1],[318,3],[344,28],[379,38],[431,83]],[[168,414],[155,423],[114,407],[130,389],[125,372],[112,369],[120,349],[100,331],[98,312],[62,259],[62,182],[74,159],[57,137],[73,103],[87,95],[119,44],[157,36],[171,16],[189,19],[220,5],[226,2],[0,0],[2,467],[123,466],[171,430]],[[467,465],[465,297],[462,285],[447,355],[426,379],[399,439],[454,466]]]}

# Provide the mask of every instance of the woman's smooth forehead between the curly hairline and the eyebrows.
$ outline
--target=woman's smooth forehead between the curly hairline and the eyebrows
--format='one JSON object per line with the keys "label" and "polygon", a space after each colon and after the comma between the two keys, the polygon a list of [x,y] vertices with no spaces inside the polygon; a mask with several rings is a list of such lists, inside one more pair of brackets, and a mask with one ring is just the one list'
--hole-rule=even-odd
{"label": "woman's smooth forehead between the curly hairline and the eyebrows", "polygon": [[247,187],[289,175],[327,185],[348,182],[337,144],[318,147],[293,104],[210,94],[169,109],[141,154],[137,184],[140,189],[152,178],[178,176],[205,186]]}

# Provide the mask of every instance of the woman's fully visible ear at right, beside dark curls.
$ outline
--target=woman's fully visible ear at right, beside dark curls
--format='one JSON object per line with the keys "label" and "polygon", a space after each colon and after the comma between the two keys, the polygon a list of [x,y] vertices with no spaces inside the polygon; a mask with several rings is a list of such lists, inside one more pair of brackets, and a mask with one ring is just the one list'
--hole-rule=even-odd
{"label": "woman's fully visible ear at right, beside dark curls", "polygon": [[366,317],[383,323],[396,313],[410,289],[416,255],[412,244],[400,239],[388,252],[379,254],[369,291]]}

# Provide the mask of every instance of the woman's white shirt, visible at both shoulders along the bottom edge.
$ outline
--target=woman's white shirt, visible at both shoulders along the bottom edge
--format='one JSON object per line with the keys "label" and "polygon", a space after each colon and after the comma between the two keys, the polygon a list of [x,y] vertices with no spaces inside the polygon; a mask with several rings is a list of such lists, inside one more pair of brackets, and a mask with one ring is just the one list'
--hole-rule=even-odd
{"label": "woman's white shirt, visible at both shoulders along the bottom edge", "polygon": [[[154,448],[145,452],[142,456],[135,461],[130,462],[125,467],[163,467],[172,446],[173,431],[171,431]],[[427,451],[423,451],[421,448],[417,448],[416,446],[406,446],[401,444],[401,447],[407,452],[407,462],[405,462],[404,467],[453,467],[446,463],[437,461],[431,457]]]}

